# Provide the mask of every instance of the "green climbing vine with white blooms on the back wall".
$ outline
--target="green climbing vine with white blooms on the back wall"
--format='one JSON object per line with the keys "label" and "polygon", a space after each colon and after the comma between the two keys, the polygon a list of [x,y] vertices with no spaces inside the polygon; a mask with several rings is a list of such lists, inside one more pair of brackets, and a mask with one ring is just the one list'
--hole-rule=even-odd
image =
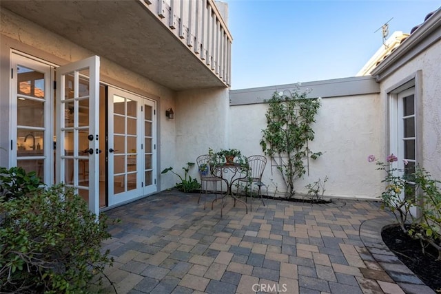
{"label": "green climbing vine with white blooms on the back wall", "polygon": [[321,98],[307,98],[307,94],[309,92],[300,92],[296,87],[288,95],[274,92],[266,101],[269,103],[265,114],[267,128],[262,131],[260,146],[276,162],[287,186],[287,198],[295,195],[294,182],[306,173],[305,162],[322,154],[308,147],[308,142],[314,140],[312,125],[316,122]]}

